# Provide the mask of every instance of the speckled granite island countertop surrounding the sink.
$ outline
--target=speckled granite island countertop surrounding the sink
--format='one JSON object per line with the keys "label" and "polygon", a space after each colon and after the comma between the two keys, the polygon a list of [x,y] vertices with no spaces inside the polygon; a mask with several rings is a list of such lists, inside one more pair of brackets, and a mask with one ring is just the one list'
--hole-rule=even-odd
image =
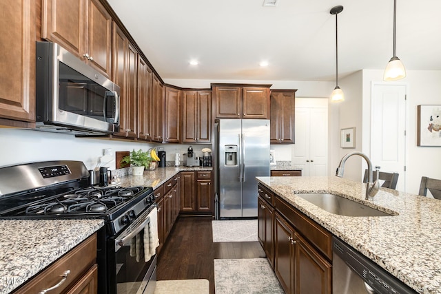
{"label": "speckled granite island countertop surrounding the sink", "polygon": [[[258,177],[259,182],[418,293],[441,293],[441,201],[338,177]],[[296,193],[334,193],[396,216],[338,216]]]}

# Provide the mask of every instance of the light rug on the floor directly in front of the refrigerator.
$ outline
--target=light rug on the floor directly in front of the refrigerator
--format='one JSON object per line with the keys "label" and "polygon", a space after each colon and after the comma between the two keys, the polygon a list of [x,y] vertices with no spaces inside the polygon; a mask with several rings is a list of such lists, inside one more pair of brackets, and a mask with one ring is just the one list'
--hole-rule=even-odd
{"label": "light rug on the floor directly in front of the refrigerator", "polygon": [[257,220],[213,220],[213,242],[257,241]]}

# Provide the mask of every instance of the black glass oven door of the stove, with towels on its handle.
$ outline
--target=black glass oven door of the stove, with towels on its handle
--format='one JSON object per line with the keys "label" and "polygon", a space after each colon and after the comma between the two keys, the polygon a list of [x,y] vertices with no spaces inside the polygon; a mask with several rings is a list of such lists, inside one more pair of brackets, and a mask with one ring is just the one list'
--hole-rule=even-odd
{"label": "black glass oven door of the stove, with towels on its handle", "polygon": [[[156,208],[155,208],[156,209]],[[109,265],[111,283],[110,289],[116,294],[150,294],[156,288],[156,254],[150,257],[145,253],[149,246],[148,236],[144,238],[145,230],[149,226],[151,209],[145,211],[123,233],[112,238],[114,253]],[[145,240],[145,242],[144,242]],[[155,251],[156,252],[156,251]],[[147,257],[146,257],[147,256]],[[145,261],[147,259],[147,261]]]}

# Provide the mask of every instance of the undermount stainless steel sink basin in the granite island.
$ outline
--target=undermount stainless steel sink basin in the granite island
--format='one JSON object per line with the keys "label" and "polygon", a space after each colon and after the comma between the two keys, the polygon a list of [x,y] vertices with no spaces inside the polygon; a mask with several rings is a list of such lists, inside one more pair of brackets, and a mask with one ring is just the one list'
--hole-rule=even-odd
{"label": "undermount stainless steel sink basin in the granite island", "polygon": [[329,193],[296,194],[312,204],[339,216],[392,216],[364,204]]}

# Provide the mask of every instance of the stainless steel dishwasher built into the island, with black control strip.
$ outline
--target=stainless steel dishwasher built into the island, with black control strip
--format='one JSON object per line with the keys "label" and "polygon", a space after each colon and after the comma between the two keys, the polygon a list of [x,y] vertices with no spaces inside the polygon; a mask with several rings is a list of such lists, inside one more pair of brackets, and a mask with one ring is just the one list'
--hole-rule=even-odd
{"label": "stainless steel dishwasher built into the island, with black control strip", "polygon": [[416,293],[378,264],[336,237],[332,238],[332,251],[332,293]]}

